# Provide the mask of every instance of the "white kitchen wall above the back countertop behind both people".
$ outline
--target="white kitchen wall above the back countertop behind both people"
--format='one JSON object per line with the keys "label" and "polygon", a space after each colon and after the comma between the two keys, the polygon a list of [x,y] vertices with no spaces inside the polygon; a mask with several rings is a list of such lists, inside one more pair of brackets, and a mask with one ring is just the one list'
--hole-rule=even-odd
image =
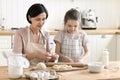
{"label": "white kitchen wall above the back countertop behind both people", "polygon": [[26,12],[34,3],[43,3],[48,9],[46,29],[62,29],[64,14],[70,8],[95,10],[98,28],[118,28],[120,25],[120,0],[0,0],[0,25],[5,28],[29,25]]}

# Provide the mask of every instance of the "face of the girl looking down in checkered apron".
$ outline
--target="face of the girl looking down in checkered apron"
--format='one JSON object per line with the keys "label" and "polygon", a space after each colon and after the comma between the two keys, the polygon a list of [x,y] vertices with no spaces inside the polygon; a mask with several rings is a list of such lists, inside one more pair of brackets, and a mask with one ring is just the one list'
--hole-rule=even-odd
{"label": "face of the girl looking down in checkered apron", "polygon": [[79,27],[78,20],[69,19],[65,24],[65,29],[67,30],[68,33],[76,32],[78,30],[78,27]]}

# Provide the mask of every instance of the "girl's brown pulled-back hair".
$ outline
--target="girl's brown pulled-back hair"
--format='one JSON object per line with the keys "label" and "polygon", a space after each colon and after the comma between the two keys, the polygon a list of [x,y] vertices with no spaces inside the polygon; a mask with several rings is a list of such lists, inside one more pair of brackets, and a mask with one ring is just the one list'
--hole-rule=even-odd
{"label": "girl's brown pulled-back hair", "polygon": [[80,16],[80,12],[76,9],[70,9],[66,12],[65,17],[64,17],[64,24],[66,24],[66,22],[69,19],[73,19],[73,20],[79,20],[79,22],[81,21],[81,16]]}

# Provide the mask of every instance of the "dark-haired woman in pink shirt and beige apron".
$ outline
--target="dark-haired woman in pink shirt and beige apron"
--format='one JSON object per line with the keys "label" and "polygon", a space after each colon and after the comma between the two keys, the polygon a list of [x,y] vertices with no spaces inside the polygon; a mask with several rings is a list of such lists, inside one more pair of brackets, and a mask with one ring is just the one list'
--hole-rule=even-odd
{"label": "dark-haired woman in pink shirt and beige apron", "polygon": [[40,61],[55,60],[58,55],[51,55],[49,34],[42,30],[48,18],[48,11],[43,4],[33,4],[26,14],[30,26],[18,30],[14,37],[13,52],[23,53],[31,64]]}

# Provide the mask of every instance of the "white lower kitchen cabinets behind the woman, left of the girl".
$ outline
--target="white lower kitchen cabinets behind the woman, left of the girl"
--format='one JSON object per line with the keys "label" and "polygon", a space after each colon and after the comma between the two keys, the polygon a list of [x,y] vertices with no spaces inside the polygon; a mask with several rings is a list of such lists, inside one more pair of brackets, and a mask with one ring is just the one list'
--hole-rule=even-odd
{"label": "white lower kitchen cabinets behind the woman, left of the girl", "polygon": [[[55,43],[53,41],[54,35],[50,35],[51,52],[55,52]],[[7,59],[3,56],[3,51],[9,52],[13,48],[14,35],[1,36],[0,35],[0,66],[7,65]]]}

